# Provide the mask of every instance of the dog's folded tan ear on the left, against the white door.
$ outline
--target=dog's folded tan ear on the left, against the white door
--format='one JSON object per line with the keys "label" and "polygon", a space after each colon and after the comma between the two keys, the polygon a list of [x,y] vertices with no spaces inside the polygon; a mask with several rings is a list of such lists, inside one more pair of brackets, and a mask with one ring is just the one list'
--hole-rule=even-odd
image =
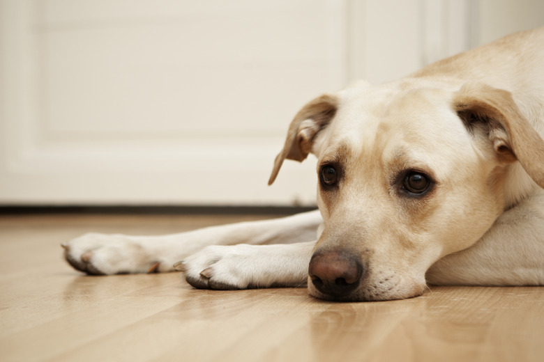
{"label": "dog's folded tan ear on the left, against the white door", "polygon": [[285,159],[302,162],[312,152],[315,136],[331,122],[338,109],[338,97],[322,95],[306,104],[296,116],[287,131],[282,151],[275,157],[269,184],[272,184]]}

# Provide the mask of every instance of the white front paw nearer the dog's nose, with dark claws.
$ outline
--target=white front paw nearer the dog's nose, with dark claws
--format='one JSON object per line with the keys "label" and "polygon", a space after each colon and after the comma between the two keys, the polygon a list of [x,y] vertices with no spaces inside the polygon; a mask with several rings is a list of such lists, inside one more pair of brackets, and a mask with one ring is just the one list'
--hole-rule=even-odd
{"label": "white front paw nearer the dog's nose, with dark claws", "polygon": [[199,289],[235,290],[254,288],[258,271],[255,268],[255,246],[207,246],[174,268],[185,273],[186,281]]}

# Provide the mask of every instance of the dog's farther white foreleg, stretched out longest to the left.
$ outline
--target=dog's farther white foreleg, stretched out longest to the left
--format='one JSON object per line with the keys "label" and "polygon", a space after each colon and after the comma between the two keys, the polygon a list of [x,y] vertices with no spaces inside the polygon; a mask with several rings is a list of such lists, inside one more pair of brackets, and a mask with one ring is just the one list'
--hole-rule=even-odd
{"label": "dog's farther white foreleg, stretched out longest to the left", "polygon": [[174,263],[210,245],[291,244],[316,239],[319,211],[233,223],[157,237],[86,234],[63,243],[66,260],[87,274],[172,272]]}

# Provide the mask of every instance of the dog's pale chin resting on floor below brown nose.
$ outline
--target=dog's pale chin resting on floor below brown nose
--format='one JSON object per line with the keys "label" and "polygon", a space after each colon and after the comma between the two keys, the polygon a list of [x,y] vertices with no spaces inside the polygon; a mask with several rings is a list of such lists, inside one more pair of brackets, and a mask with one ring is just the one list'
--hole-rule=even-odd
{"label": "dog's pale chin resting on floor below brown nose", "polygon": [[398,288],[379,288],[376,285],[360,285],[358,288],[344,295],[332,295],[320,292],[308,281],[308,292],[312,297],[326,301],[390,301],[419,297],[423,294],[425,283],[407,283]]}

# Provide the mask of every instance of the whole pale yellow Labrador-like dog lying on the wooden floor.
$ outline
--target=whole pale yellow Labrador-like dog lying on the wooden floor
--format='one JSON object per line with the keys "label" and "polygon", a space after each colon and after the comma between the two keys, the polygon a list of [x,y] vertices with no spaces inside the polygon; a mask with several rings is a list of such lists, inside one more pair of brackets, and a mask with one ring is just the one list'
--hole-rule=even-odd
{"label": "whole pale yellow Labrador-like dog lying on the wooden floor", "polygon": [[[544,28],[306,104],[275,159],[317,157],[319,210],[63,244],[87,274],[383,301],[432,285],[544,285]],[[181,260],[181,261],[180,261]]]}

